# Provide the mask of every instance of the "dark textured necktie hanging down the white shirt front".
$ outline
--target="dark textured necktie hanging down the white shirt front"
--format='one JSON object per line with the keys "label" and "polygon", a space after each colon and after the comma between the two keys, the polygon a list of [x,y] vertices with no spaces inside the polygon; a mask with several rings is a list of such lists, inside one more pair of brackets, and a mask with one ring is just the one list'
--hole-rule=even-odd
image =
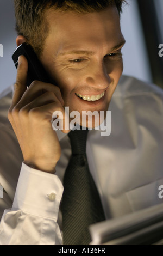
{"label": "dark textured necktie hanging down the white shirt front", "polygon": [[89,225],[104,221],[99,194],[86,158],[88,130],[68,133],[72,156],[64,176],[62,197],[62,230],[64,245],[89,245]]}

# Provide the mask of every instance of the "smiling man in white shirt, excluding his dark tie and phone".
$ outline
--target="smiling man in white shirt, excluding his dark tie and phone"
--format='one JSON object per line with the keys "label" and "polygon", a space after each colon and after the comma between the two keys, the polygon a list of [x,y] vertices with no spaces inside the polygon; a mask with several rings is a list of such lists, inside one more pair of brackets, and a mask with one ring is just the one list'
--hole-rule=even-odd
{"label": "smiling man in white shirt, excluding his dark tie and phone", "polygon": [[[71,146],[66,130],[53,130],[52,114],[64,116],[64,107],[69,107],[70,112],[102,111],[106,116],[123,71],[123,1],[89,2],[15,0],[17,46],[32,45],[58,86],[34,81],[26,89],[28,63],[19,58],[8,115],[16,137],[11,127],[8,132],[2,127],[4,144],[14,144],[8,154],[12,161],[2,160],[3,210],[11,207],[23,163],[14,203],[2,217],[2,244],[62,243],[59,205]],[[106,219],[161,203],[162,145],[156,143],[162,136],[162,90],[127,77],[120,85],[110,109],[115,115],[112,137],[93,130],[87,139],[89,168]],[[8,99],[9,94],[2,100]],[[151,102],[155,120],[148,112]]]}

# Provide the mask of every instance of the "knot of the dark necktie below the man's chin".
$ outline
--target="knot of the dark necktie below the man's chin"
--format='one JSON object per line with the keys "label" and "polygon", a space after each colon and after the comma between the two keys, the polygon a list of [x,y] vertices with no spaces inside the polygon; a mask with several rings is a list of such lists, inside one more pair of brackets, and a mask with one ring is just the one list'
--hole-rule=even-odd
{"label": "knot of the dark necktie below the man's chin", "polygon": [[72,154],[86,152],[86,138],[89,130],[74,130],[68,133],[71,142]]}

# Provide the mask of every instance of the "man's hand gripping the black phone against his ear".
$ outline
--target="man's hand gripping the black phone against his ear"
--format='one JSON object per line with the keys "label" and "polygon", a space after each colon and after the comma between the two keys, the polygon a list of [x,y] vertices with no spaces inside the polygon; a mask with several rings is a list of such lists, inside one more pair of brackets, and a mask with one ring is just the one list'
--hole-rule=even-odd
{"label": "man's hand gripping the black phone against his ear", "polygon": [[34,81],[27,89],[27,71],[27,59],[20,56],[8,118],[24,162],[36,169],[54,173],[61,149],[51,120],[54,111],[61,111],[65,116],[64,100],[60,89],[53,84]]}

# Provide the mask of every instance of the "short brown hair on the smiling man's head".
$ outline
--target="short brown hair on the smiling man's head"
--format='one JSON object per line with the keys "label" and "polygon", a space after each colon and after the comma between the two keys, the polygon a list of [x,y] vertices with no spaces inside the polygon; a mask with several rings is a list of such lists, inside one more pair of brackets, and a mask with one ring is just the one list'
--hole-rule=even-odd
{"label": "short brown hair on the smiling man's head", "polygon": [[115,5],[121,14],[125,0],[14,0],[16,31],[32,45],[38,57],[48,35],[48,23],[45,14],[48,9],[93,13]]}

